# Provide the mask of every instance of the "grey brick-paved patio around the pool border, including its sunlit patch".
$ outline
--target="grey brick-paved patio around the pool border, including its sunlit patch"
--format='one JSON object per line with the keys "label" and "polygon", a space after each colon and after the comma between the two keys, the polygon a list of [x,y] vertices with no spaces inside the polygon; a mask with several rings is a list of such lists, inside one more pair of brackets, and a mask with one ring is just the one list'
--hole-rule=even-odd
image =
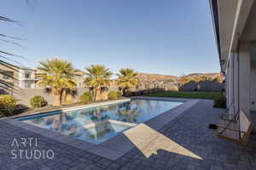
{"label": "grey brick-paved patio around the pool border, including its sunlit patch", "polygon": [[[209,123],[218,122],[218,114],[223,111],[212,108],[212,100],[200,100],[159,131],[142,123],[142,129],[150,133],[148,140],[137,143],[132,139],[136,147],[116,161],[0,121],[0,169],[256,169],[255,134],[247,146],[242,146],[218,139],[215,131],[207,128]],[[20,137],[37,138],[38,145],[20,146],[19,150],[54,150],[54,158],[11,159],[11,150],[17,149],[11,144]]]}

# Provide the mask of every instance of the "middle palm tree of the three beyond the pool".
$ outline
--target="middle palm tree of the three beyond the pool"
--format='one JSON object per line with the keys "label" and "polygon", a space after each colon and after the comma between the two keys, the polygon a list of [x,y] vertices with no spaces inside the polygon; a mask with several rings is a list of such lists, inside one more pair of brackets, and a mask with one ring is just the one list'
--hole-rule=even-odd
{"label": "middle palm tree of the three beyond the pool", "polygon": [[84,82],[93,91],[93,99],[96,100],[96,96],[102,94],[110,85],[113,73],[104,65],[90,65],[85,70]]}

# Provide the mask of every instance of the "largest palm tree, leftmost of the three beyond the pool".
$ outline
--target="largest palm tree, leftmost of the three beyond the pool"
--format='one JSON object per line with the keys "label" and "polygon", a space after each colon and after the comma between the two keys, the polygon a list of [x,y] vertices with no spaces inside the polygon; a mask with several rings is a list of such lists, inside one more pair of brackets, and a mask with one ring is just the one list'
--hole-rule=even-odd
{"label": "largest palm tree, leftmost of the three beyond the pool", "polygon": [[62,95],[67,96],[67,89],[72,89],[76,86],[76,82],[73,80],[77,70],[73,68],[71,62],[67,62],[61,59],[47,59],[45,62],[39,62],[38,74],[40,79],[37,83],[40,87],[50,87],[55,96],[54,105],[62,104]]}

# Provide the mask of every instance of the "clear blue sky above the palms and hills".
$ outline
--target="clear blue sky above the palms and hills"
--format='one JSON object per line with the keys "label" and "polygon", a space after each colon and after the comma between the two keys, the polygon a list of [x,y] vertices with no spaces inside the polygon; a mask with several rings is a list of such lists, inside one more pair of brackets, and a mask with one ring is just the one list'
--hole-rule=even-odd
{"label": "clear blue sky above the palms and hills", "polygon": [[26,38],[25,49],[0,43],[20,54],[23,65],[59,57],[79,69],[90,64],[112,71],[180,76],[219,72],[208,0],[4,0],[1,33]]}

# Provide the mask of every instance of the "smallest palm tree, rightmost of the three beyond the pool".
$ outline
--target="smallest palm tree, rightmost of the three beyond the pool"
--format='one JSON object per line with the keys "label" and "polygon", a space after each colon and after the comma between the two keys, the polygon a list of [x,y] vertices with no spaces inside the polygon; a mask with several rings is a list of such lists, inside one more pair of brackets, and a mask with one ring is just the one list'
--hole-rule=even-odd
{"label": "smallest palm tree, rightmost of the three beyond the pool", "polygon": [[118,79],[116,80],[116,83],[119,88],[122,89],[124,95],[126,95],[127,92],[130,92],[132,87],[137,86],[137,72],[135,72],[133,69],[120,69],[117,76]]}

